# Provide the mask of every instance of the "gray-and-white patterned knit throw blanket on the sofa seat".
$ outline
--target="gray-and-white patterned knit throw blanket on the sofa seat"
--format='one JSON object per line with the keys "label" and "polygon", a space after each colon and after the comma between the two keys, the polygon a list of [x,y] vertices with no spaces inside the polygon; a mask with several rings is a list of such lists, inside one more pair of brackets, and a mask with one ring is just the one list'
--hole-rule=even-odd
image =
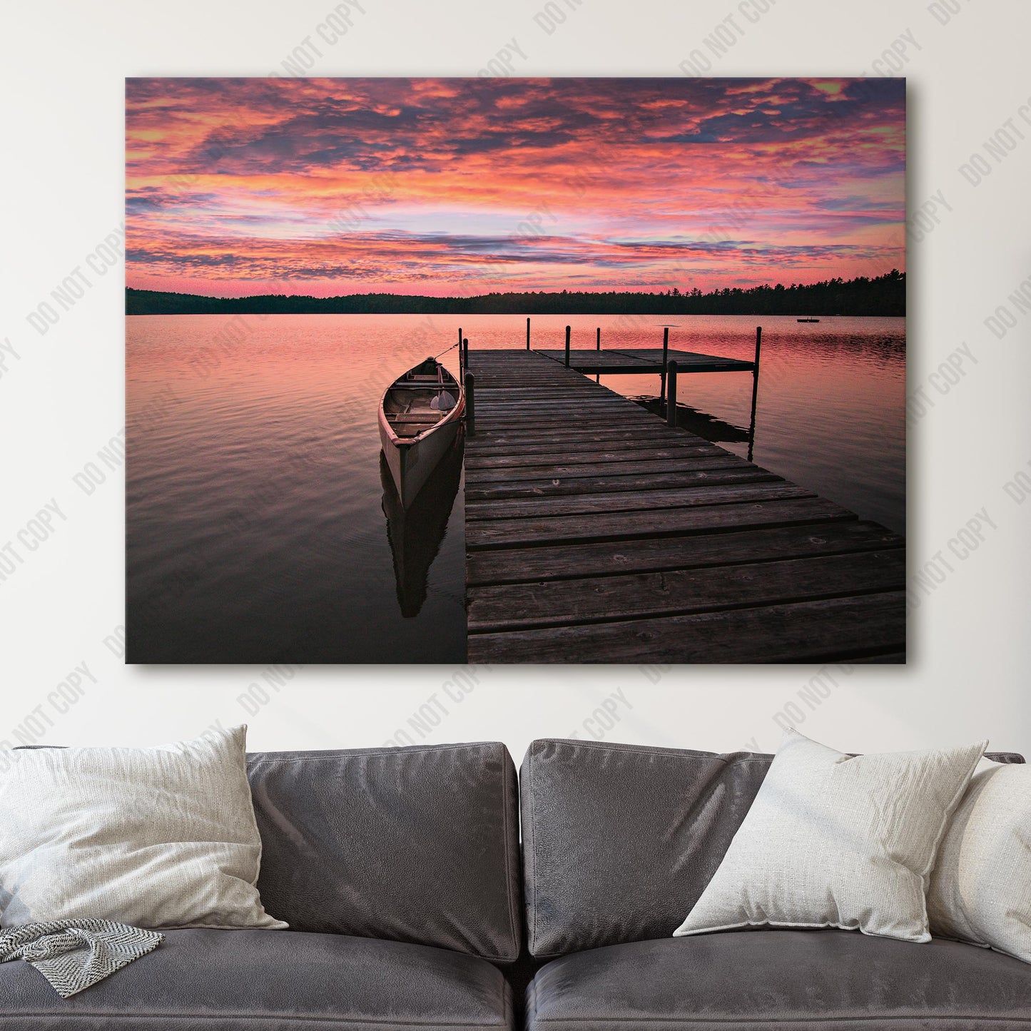
{"label": "gray-and-white patterned knit throw blanket on the sofa seat", "polygon": [[0,963],[31,963],[67,999],[153,952],[163,934],[109,920],[55,920],[0,931]]}

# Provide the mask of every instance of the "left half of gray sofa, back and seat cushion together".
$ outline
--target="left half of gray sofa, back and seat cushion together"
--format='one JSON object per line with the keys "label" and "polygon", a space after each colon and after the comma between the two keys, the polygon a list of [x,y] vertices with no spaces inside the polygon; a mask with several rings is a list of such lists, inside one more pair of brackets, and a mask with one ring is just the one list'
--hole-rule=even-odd
{"label": "left half of gray sofa, back and seat cushion together", "polygon": [[290,931],[166,931],[62,1000],[0,966],[0,1031],[513,1026],[519,797],[503,744],[248,757],[258,887]]}

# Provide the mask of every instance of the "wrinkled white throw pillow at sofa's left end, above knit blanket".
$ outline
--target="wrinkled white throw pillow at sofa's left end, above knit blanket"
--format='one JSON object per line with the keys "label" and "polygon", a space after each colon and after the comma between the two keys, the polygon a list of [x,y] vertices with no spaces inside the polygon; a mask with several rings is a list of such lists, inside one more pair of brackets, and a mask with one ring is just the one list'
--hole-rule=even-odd
{"label": "wrinkled white throw pillow at sofa's left end, above knit blanket", "polygon": [[284,928],[262,908],[245,727],[157,749],[38,749],[0,773],[0,926]]}

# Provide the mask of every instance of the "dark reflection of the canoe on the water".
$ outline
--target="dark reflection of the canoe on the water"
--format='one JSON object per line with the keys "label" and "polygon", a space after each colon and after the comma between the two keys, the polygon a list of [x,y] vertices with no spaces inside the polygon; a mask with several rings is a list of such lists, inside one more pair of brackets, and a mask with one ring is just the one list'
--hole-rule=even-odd
{"label": "dark reflection of the canoe on the water", "polygon": [[426,601],[430,566],[447,533],[455,497],[462,479],[465,444],[461,431],[430,478],[405,508],[401,504],[387,457],[379,453],[379,481],[384,489],[383,510],[387,517],[387,539],[394,556],[394,578],[401,614],[410,620]]}

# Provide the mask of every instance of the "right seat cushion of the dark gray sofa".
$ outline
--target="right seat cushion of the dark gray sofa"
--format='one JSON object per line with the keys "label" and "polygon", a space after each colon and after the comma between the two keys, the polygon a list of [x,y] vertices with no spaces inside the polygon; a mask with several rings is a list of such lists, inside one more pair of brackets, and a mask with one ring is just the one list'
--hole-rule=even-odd
{"label": "right seat cushion of the dark gray sofa", "polygon": [[958,941],[723,931],[554,960],[530,986],[527,1021],[531,1031],[1028,1031],[1031,966]]}

